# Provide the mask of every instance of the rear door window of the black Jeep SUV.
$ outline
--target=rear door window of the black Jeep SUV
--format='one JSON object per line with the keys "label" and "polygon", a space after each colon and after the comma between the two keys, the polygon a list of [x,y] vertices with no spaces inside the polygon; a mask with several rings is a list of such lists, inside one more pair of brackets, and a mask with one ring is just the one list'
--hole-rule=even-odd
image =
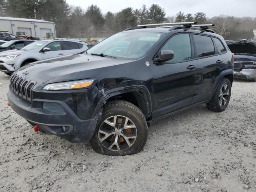
{"label": "rear door window of the black Jeep SUV", "polygon": [[196,57],[205,57],[215,54],[212,39],[208,36],[193,35],[196,46]]}

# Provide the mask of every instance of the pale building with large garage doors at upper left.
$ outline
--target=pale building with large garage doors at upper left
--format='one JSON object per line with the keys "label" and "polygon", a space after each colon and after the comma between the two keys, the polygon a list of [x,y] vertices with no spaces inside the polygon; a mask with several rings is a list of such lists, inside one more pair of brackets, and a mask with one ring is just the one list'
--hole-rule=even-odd
{"label": "pale building with large garage doors at upper left", "polygon": [[0,31],[8,31],[14,35],[17,31],[26,32],[27,35],[39,38],[44,38],[47,32],[52,32],[56,37],[54,22],[36,19],[0,17]]}

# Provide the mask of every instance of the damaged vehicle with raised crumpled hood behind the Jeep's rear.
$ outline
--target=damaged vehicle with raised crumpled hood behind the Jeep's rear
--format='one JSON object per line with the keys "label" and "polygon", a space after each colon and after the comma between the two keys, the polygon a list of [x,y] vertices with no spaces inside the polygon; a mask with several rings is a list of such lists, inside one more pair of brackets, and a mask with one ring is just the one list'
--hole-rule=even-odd
{"label": "damaged vehicle with raised crumpled hood behind the Jeep's rear", "polygon": [[235,54],[234,77],[256,81],[256,42],[249,39],[227,40]]}

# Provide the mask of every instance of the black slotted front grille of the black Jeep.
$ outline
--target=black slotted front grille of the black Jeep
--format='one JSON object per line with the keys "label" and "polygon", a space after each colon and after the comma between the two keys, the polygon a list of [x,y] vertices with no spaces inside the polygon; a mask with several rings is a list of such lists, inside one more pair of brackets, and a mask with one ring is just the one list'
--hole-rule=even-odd
{"label": "black slotted front grille of the black Jeep", "polygon": [[20,77],[17,74],[13,74],[10,77],[10,82],[12,90],[15,94],[26,100],[31,100],[32,88],[34,87],[36,82],[32,82],[28,79],[25,79],[24,77]]}

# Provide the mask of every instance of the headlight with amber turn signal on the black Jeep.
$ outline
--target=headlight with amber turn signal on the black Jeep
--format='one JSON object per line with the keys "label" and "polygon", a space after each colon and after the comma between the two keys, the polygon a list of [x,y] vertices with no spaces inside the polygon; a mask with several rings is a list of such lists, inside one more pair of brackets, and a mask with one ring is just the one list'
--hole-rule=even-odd
{"label": "headlight with amber turn signal on the black Jeep", "polygon": [[68,81],[60,83],[51,83],[44,86],[43,90],[67,90],[67,89],[79,89],[90,86],[94,82],[93,79]]}

